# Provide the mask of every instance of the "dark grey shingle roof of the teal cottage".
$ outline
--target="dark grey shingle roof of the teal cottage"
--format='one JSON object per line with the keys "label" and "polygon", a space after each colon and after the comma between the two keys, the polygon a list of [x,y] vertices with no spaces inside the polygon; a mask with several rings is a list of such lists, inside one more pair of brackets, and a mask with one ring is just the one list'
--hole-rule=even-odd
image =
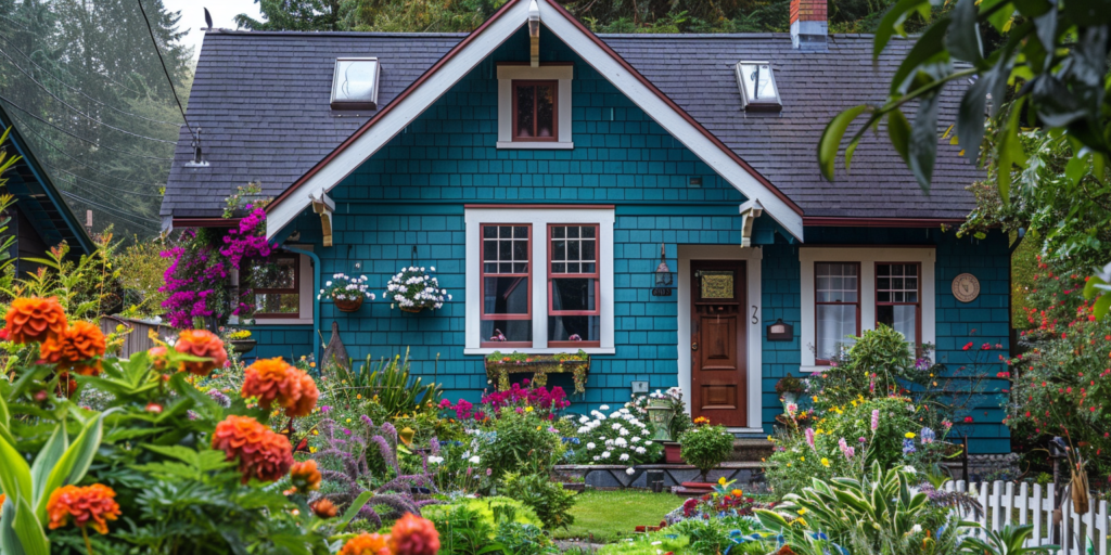
{"label": "dark grey shingle roof of the teal cottage", "polygon": [[[329,109],[337,57],[379,57],[383,107],[463,37],[208,33],[188,114],[203,129],[206,159],[212,165],[183,167],[191,149],[182,131],[162,214],[219,215],[223,199],[248,181],[261,181],[264,194],[278,195],[373,115],[364,111],[338,118]],[[601,38],[798,203],[805,216],[963,218],[973,204],[964,188],[980,174],[948,141],[938,148],[930,196],[920,191],[885,133],[861,142],[851,174],[840,169],[840,161],[835,182],[819,174],[815,148],[825,123],[844,108],[882,101],[910,41],[893,41],[873,69],[869,36],[832,36],[828,52],[794,50],[789,34]],[[741,110],[733,72],[739,60],[772,62],[781,113]],[[945,94],[942,129],[954,119],[959,94]]]}

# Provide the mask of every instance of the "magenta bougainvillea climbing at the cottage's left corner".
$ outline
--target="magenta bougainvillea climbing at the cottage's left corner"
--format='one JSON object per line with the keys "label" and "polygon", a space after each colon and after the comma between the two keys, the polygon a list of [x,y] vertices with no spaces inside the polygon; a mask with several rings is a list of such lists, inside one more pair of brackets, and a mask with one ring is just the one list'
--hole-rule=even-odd
{"label": "magenta bougainvillea climbing at the cottage's left corner", "polygon": [[244,260],[264,259],[273,246],[263,233],[266,212],[251,205],[247,211],[237,228],[186,230],[177,246],[162,252],[163,258],[173,260],[159,291],[169,293],[162,307],[174,327],[190,327],[198,317],[222,323],[232,314],[246,315],[253,310],[247,302],[250,291],[241,289],[233,299],[228,279]]}

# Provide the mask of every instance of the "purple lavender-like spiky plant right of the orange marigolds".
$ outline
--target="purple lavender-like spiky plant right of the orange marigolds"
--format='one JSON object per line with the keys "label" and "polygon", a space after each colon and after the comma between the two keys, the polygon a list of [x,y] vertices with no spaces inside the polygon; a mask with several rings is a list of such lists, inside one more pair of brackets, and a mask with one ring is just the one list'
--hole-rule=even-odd
{"label": "purple lavender-like spiky plant right of the orange marigolds", "polygon": [[[398,465],[397,430],[390,423],[376,426],[374,422],[363,415],[361,426],[351,435],[343,433],[344,428],[331,418],[324,418],[317,424],[320,438],[324,445],[311,456],[320,465],[320,474],[324,486],[317,498],[328,498],[337,505],[350,505],[363,492],[374,492],[357,518],[369,521],[374,526],[381,526],[382,518],[397,518],[406,513],[420,515],[420,507],[437,503],[434,500],[417,500],[412,491],[417,487],[436,491],[432,476],[427,467],[420,474],[400,474]],[[386,461],[388,475],[376,476],[372,470],[373,458],[381,456]],[[374,487],[373,484],[381,483]],[[382,507],[389,512],[379,514]]]}

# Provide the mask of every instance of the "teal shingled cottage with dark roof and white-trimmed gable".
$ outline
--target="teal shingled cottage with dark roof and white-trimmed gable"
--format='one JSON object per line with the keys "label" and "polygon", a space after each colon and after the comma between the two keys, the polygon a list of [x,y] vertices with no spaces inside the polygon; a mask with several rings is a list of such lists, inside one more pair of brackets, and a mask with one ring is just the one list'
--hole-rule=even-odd
{"label": "teal shingled cottage with dark roof and white-trimmed gable", "polygon": [[[258,354],[319,355],[334,321],[356,359],[410,349],[417,374],[472,401],[491,387],[484,354],[581,346],[577,410],[623,403],[634,382],[678,385],[694,415],[762,437],[782,411],[775,382],[820,371],[877,322],[935,344],[952,371],[970,341],[1005,349],[1008,239],[943,230],[981,175],[958,147],[939,141],[929,195],[882,135],[851,173],[819,173],[825,123],[884,99],[911,42],[873,67],[871,37],[827,37],[823,0],[792,13],[791,34],[594,36],[552,0],[511,0],[470,34],[209,31],[188,114],[208,165],[187,164],[183,131],[163,221],[228,225],[223,199],[261,182],[290,269],[267,294],[298,301],[257,320]],[[332,103],[333,80],[369,94]],[[414,246],[453,295],[442,310],[317,302],[334,272],[368,275],[381,297]],[[964,273],[979,291],[961,302]],[[772,341],[780,321],[792,333]],[[973,413],[973,452],[1010,451],[999,401]]]}

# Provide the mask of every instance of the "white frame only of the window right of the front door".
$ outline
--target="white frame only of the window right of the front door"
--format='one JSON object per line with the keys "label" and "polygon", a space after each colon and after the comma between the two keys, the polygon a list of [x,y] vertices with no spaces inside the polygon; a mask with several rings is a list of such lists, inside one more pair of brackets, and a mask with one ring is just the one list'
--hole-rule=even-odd
{"label": "white frame only of the window right of the front door", "polygon": [[934,262],[937,249],[922,248],[859,248],[859,246],[802,246],[799,249],[801,264],[802,372],[820,372],[827,365],[818,365],[814,360],[817,324],[814,322],[814,263],[859,262],[860,263],[860,333],[875,329],[875,263],[917,262],[922,265],[922,343],[937,343],[937,293],[934,284]]}

